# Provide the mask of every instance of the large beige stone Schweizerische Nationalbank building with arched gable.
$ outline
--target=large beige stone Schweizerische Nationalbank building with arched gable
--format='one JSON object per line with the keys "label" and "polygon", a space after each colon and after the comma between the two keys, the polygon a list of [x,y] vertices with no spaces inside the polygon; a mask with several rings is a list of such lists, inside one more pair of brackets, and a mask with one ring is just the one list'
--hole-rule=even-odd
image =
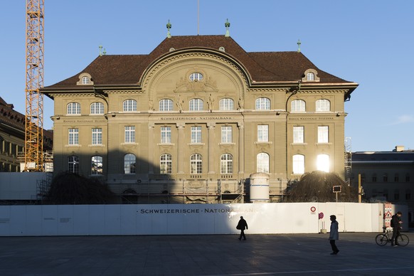
{"label": "large beige stone Schweizerische Nationalbank building with arched gable", "polygon": [[147,55],[100,55],[41,92],[54,100],[55,172],[100,177],[132,202],[214,203],[242,202],[256,172],[270,201],[307,171],[344,177],[357,86],[300,51],[172,36]]}

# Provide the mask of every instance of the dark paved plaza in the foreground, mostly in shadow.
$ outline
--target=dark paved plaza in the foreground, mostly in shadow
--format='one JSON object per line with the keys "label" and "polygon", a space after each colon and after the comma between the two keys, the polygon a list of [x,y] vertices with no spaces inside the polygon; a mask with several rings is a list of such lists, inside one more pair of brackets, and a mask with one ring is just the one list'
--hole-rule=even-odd
{"label": "dark paved plaza in the foreground, mostly in shadow", "polygon": [[1,237],[0,275],[414,275],[411,244],[377,233]]}

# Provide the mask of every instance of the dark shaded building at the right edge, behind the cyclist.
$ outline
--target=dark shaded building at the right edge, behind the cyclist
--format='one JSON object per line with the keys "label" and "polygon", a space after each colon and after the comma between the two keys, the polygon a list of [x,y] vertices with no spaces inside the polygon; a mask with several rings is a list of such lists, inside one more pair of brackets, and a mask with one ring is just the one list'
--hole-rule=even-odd
{"label": "dark shaded building at the right edge, behind the cyclist", "polygon": [[414,151],[397,146],[389,152],[353,152],[354,186],[359,176],[365,201],[387,201],[408,206],[408,220],[414,223]]}

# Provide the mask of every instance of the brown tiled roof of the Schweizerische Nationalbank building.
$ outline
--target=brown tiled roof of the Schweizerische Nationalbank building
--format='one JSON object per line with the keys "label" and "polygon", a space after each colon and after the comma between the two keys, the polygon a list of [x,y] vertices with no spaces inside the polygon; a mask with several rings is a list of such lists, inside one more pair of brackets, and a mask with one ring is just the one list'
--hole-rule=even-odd
{"label": "brown tiled roof of the Schweizerische Nationalbank building", "polygon": [[[89,73],[94,85],[138,85],[144,71],[170,49],[182,51],[198,48],[200,51],[225,48],[224,55],[240,63],[255,83],[297,82],[304,71],[318,72],[319,83],[351,83],[319,70],[302,53],[297,52],[255,52],[248,53],[233,38],[225,36],[172,36],[165,38],[148,55],[102,55],[97,57],[80,73]],[[221,52],[218,52],[221,53]],[[76,85],[80,73],[54,85],[43,88],[43,92],[55,89],[88,89],[90,86]]]}

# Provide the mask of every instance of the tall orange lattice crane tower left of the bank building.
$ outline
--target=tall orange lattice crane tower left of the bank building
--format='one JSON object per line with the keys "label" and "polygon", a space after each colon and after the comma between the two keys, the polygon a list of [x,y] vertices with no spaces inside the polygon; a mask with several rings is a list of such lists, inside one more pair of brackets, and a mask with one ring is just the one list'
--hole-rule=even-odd
{"label": "tall orange lattice crane tower left of the bank building", "polygon": [[44,0],[26,0],[24,171],[43,171]]}

